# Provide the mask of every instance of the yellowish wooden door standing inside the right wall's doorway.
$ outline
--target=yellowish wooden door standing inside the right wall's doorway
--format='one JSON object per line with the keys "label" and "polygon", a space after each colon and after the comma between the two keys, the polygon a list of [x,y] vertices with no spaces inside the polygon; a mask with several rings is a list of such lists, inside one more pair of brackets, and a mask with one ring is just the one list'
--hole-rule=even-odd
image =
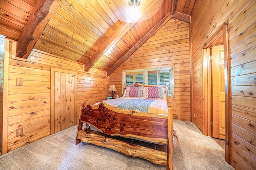
{"label": "yellowish wooden door standing inside the right wall's doorway", "polygon": [[223,45],[212,47],[212,137],[225,139],[225,78]]}

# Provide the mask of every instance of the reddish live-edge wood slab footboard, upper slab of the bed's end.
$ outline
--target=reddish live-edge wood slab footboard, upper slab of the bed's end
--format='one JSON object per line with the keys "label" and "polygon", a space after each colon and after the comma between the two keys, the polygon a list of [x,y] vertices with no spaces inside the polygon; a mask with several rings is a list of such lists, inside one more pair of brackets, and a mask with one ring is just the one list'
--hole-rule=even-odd
{"label": "reddish live-edge wood slab footboard, upper slab of the bed's end", "polygon": [[166,115],[123,110],[102,102],[97,106],[87,105],[82,109],[81,120],[107,135],[138,137],[167,145],[168,117]]}

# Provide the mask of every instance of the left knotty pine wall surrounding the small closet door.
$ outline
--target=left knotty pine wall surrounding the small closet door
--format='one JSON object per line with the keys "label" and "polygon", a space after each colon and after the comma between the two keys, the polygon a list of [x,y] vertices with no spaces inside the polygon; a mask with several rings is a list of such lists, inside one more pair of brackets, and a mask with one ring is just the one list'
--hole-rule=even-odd
{"label": "left knotty pine wall surrounding the small closet door", "polygon": [[[94,104],[107,95],[107,77],[104,71],[92,68],[90,72],[82,72],[82,64],[37,50],[32,51],[30,60],[25,62],[9,58],[8,132],[3,134],[8,135],[8,141],[4,141],[8,152],[50,135],[51,68],[73,70],[77,73],[77,120],[82,101]],[[16,86],[16,78],[23,78],[24,86]],[[23,135],[16,137],[16,129],[19,127],[23,127]]]}

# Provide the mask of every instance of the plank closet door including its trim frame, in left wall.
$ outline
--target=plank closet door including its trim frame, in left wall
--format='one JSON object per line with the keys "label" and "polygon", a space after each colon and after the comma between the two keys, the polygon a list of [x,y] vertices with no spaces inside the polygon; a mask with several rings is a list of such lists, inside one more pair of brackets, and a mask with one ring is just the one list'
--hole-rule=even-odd
{"label": "plank closet door including its trim frame, in left wall", "polygon": [[53,134],[76,125],[76,73],[52,69],[51,81]]}

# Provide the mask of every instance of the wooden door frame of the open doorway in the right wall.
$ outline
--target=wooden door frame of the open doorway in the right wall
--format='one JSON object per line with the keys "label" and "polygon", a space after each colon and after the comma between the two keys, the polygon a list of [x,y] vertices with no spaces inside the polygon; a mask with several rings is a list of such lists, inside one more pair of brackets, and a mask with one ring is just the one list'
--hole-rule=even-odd
{"label": "wooden door frame of the open doorway in the right wall", "polygon": [[204,43],[202,50],[203,56],[203,134],[211,136],[212,127],[212,91],[211,91],[211,65],[208,60],[208,48],[214,46],[220,39],[223,38],[224,46],[224,74],[225,74],[225,118],[226,118],[226,137],[225,137],[225,160],[230,164],[230,64],[228,53],[228,22],[225,21],[212,36]]}

